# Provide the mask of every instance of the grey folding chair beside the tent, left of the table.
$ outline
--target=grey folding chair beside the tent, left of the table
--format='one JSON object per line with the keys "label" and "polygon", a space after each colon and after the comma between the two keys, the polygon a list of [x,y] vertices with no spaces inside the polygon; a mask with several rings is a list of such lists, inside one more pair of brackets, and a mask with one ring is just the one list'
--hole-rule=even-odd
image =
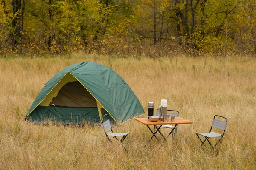
{"label": "grey folding chair beside the tent, left of the table", "polygon": [[[107,114],[105,114],[105,115],[103,115],[103,116],[101,117],[102,125],[103,125],[103,129],[104,129],[105,135],[107,136],[107,138],[108,138],[108,140],[109,140],[110,142],[112,142],[112,141],[111,141],[111,139],[109,138],[109,136],[113,136],[116,140],[118,140],[118,139],[117,139],[118,136],[122,136],[122,139],[118,140],[118,141],[120,142],[120,144],[122,145],[122,142],[125,140],[126,136],[129,134],[129,132],[125,132],[125,133],[113,133],[113,130],[112,130],[111,125],[110,125],[109,118],[108,118],[108,120],[106,120],[106,121],[104,122],[104,119],[103,119],[103,118],[104,118],[105,116],[108,117]],[[107,131],[110,131],[110,132],[107,133]],[[124,147],[123,145],[122,145],[122,147],[125,149],[125,147]],[[126,149],[125,149],[125,151],[128,152]]]}

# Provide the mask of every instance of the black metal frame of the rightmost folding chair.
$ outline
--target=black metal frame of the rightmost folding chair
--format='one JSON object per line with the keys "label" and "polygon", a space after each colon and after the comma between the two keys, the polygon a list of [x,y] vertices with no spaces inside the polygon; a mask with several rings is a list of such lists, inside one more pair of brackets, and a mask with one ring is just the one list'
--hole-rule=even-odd
{"label": "black metal frame of the rightmost folding chair", "polygon": [[[215,119],[215,117],[221,117],[221,118],[224,118],[224,119],[226,119],[226,122],[224,122],[224,121],[221,121],[221,120],[219,120],[219,119]],[[222,122],[222,123],[221,123]],[[224,127],[223,127],[224,126]],[[223,117],[223,116],[219,116],[219,115],[215,115],[214,117],[213,117],[213,121],[212,121],[212,126],[211,126],[211,128],[210,128],[210,131],[209,131],[209,133],[211,133],[211,132],[213,132],[212,131],[212,127],[216,127],[216,128],[218,128],[218,129],[221,129],[221,130],[223,130],[223,133],[222,133],[222,135],[220,136],[220,139],[218,140],[218,142],[215,144],[215,147],[218,145],[218,143],[220,143],[221,142],[221,140],[222,140],[222,138],[223,138],[223,136],[224,136],[224,133],[225,133],[225,130],[226,130],[226,126],[227,126],[227,118],[226,117]],[[211,137],[211,136],[207,136],[207,135],[202,135],[202,134],[200,134],[200,133],[195,133],[196,134],[196,136],[198,137],[198,139],[201,141],[201,145],[200,145],[200,147],[202,147],[203,145],[204,145],[204,142],[205,141],[208,141],[208,143],[210,144],[210,146],[212,147],[212,149],[214,149],[214,147],[212,146],[212,144],[211,144],[211,142],[209,141],[209,138],[214,138],[214,137]],[[219,133],[218,133],[219,134]],[[199,135],[201,135],[201,136],[204,136],[204,142],[201,140],[201,138],[199,137]],[[204,145],[205,146],[205,145]],[[206,147],[206,146],[205,146]]]}

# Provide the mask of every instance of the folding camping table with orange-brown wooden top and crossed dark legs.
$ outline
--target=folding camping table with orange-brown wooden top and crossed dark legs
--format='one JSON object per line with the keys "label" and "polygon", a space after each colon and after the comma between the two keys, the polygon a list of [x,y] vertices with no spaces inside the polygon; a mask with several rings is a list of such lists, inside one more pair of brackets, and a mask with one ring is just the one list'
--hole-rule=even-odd
{"label": "folding camping table with orange-brown wooden top and crossed dark legs", "polygon": [[[153,136],[151,136],[151,138],[148,140],[148,143],[151,141],[151,139],[153,137],[155,137],[157,139],[157,136],[156,136],[156,133],[160,133],[161,136],[163,136],[163,134],[160,132],[160,128],[163,126],[163,125],[169,125],[169,124],[174,124],[175,126],[172,128],[172,131],[175,129],[175,127],[178,125],[178,124],[192,124],[193,122],[190,121],[190,120],[186,120],[182,117],[175,117],[175,120],[174,121],[171,121],[169,120],[168,122],[163,122],[163,120],[158,120],[157,122],[152,122],[150,120],[148,120],[148,118],[136,118],[135,120],[137,120],[138,122],[144,124],[144,125],[147,125],[148,129],[151,131],[151,133],[153,134]],[[151,128],[148,126],[148,125],[153,125],[157,130],[155,132],[153,132],[153,130],[151,130]],[[157,127],[156,125],[160,125],[160,127]],[[172,131],[169,133],[169,135],[172,133]],[[168,136],[169,136],[168,135]],[[167,136],[167,137],[168,137]],[[163,139],[166,141],[166,138],[163,136]],[[157,139],[158,142],[159,139]],[[147,143],[147,144],[148,144]],[[146,144],[146,145],[147,145]],[[145,145],[145,146],[146,146]],[[144,147],[145,147],[144,146]],[[143,147],[143,148],[144,148]]]}

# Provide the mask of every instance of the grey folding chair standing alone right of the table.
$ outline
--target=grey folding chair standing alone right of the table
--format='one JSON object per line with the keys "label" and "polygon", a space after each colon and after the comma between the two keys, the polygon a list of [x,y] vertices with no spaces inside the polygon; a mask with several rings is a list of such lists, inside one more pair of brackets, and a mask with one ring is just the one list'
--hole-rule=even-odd
{"label": "grey folding chair standing alone right of the table", "polygon": [[[221,121],[221,120],[219,120],[219,119],[215,119],[215,117],[224,118],[224,119],[226,119],[226,122],[225,122],[225,121]],[[220,133],[213,132],[213,131],[212,131],[212,127],[216,127],[216,128],[218,128],[218,129],[223,130],[222,135],[221,135]],[[204,145],[204,142],[205,142],[205,141],[208,141],[209,144],[211,145],[212,149],[213,149],[214,147],[212,146],[211,142],[209,141],[209,138],[220,137],[219,140],[218,140],[218,142],[215,144],[215,147],[216,147],[217,144],[221,142],[221,139],[223,138],[223,135],[224,135],[224,133],[225,133],[226,127],[227,127],[227,118],[225,118],[225,117],[223,117],[223,116],[215,115],[215,116],[213,117],[212,126],[211,126],[211,129],[210,129],[209,133],[195,133],[195,134],[198,136],[198,139],[199,139],[199,140],[201,141],[201,143],[202,143],[202,144],[200,145],[200,147],[201,147],[202,145]],[[199,135],[204,136],[204,138],[205,138],[205,139],[204,139],[204,142],[201,140],[201,138],[199,137]],[[205,146],[205,145],[204,145],[204,146]],[[205,146],[205,147],[206,147],[206,146]]]}

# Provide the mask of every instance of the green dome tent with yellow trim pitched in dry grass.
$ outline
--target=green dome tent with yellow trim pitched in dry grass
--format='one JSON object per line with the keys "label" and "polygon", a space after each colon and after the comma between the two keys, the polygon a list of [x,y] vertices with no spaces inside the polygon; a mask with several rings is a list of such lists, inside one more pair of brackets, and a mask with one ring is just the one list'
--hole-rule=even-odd
{"label": "green dome tent with yellow trim pitched in dry grass", "polygon": [[81,62],[64,68],[44,85],[25,120],[99,123],[106,113],[121,125],[145,111],[115,71],[95,62]]}

